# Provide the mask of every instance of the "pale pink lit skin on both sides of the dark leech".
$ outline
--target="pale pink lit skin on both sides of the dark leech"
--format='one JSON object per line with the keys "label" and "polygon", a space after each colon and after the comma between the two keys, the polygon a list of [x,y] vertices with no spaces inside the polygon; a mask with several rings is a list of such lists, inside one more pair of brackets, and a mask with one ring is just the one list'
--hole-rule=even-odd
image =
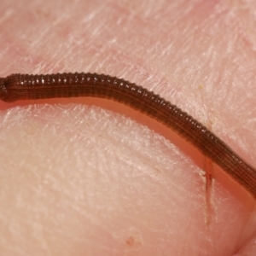
{"label": "pale pink lit skin on both sides of the dark leech", "polygon": [[[123,77],[256,166],[253,1],[173,2],[1,1],[1,77]],[[45,102],[0,105],[1,255],[255,255],[253,213],[216,181],[207,223],[201,168],[150,125]]]}

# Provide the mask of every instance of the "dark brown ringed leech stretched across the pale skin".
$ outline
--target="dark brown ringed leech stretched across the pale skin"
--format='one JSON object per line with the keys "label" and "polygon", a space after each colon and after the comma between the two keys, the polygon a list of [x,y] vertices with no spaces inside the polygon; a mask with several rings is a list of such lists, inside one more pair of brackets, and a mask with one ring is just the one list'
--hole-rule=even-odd
{"label": "dark brown ringed leech stretched across the pale skin", "polygon": [[96,73],[12,74],[0,79],[3,102],[78,96],[108,98],[146,113],[192,143],[256,199],[255,168],[188,113],[142,86]]}

